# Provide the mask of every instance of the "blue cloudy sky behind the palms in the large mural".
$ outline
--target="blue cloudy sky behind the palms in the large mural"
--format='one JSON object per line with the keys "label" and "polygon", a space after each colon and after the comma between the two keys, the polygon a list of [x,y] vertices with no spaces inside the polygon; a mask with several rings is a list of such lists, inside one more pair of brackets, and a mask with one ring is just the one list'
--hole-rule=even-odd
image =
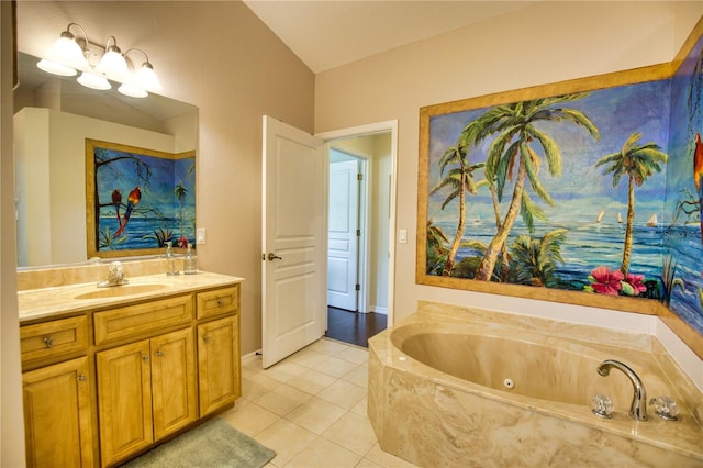
{"label": "blue cloudy sky behind the palms in the large mural", "polygon": [[[617,212],[623,216],[627,210],[627,180],[622,179],[613,188],[611,176],[603,176],[602,168],[595,163],[604,155],[618,152],[623,143],[633,132],[643,134],[640,144],[654,142],[667,152],[667,131],[669,127],[669,81],[650,81],[604,90],[592,91],[587,98],[562,105],[582,111],[599,129],[601,137],[593,140],[582,127],[567,122],[543,122],[539,129],[549,134],[562,156],[562,176],[551,177],[546,163],[539,176],[547,191],[555,199],[557,207],[550,208],[537,201],[551,222],[578,222],[593,220],[601,209],[611,213],[614,220]],[[429,188],[439,180],[437,160],[446,148],[453,146],[464,126],[486,112],[489,108],[466,112],[443,114],[431,118],[429,142]],[[471,149],[472,163],[483,161],[492,140],[483,142]],[[533,145],[538,149],[538,145]],[[478,178],[482,171],[477,172]],[[665,218],[663,190],[666,167],[661,174],[652,175],[643,187],[636,188],[635,224],[643,224],[651,214],[657,213],[660,221]],[[512,187],[506,188],[506,197]],[[439,210],[447,192],[442,191],[431,197],[428,215],[436,221],[456,219],[457,203]],[[507,200],[503,202],[506,203]],[[491,218],[490,194],[487,189],[476,197],[467,197],[467,218]],[[607,216],[609,214],[606,214]]]}

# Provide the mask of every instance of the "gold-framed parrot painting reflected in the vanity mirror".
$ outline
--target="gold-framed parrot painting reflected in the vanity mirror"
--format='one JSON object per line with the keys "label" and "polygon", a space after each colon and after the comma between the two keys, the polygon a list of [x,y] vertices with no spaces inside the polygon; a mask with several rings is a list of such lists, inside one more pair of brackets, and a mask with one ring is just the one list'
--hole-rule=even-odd
{"label": "gold-framed parrot painting reflected in the vanity mirror", "polygon": [[196,245],[196,154],[86,138],[88,258]]}

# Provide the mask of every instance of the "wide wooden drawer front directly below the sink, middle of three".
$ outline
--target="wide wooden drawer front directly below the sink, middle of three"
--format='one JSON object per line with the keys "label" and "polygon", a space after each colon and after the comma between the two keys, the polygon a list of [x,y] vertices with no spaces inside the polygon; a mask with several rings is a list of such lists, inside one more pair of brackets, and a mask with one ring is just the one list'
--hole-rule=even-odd
{"label": "wide wooden drawer front directly below the sink, middle of three", "polygon": [[96,345],[188,325],[193,319],[192,296],[179,296],[125,308],[96,312]]}

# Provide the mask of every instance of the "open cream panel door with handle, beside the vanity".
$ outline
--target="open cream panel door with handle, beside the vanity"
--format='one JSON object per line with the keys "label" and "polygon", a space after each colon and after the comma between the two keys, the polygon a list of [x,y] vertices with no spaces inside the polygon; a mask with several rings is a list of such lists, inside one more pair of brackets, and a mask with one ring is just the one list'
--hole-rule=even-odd
{"label": "open cream panel door with handle, beside the vanity", "polygon": [[264,367],[324,334],[327,160],[322,147],[322,140],[264,116]]}

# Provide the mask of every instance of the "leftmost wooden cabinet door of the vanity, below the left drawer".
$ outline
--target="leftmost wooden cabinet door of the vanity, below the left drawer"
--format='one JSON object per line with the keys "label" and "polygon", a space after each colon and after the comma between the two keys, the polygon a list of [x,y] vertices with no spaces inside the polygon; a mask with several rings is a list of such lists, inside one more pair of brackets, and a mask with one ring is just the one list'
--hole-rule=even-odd
{"label": "leftmost wooden cabinet door of the vanity, below the left drawer", "polygon": [[88,358],[22,375],[29,467],[92,467]]}

